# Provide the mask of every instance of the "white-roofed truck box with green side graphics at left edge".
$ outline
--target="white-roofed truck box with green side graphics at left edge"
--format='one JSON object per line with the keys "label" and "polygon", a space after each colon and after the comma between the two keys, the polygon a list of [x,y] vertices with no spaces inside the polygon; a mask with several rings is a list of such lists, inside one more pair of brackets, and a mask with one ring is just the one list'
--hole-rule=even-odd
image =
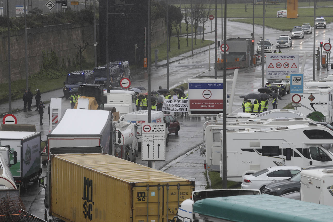
{"label": "white-roofed truck box with green side graphics at left edge", "polygon": [[41,169],[41,132],[0,131],[0,145],[17,153],[17,163],[11,159],[10,171],[17,187],[27,189],[28,182],[38,181]]}

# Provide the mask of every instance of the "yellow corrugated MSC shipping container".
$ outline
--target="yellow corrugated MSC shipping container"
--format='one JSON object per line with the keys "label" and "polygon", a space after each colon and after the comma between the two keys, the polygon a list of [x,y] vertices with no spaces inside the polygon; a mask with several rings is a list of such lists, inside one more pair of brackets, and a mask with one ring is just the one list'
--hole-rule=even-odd
{"label": "yellow corrugated MSC shipping container", "polygon": [[53,216],[65,221],[167,222],[194,181],[108,154],[51,158]]}

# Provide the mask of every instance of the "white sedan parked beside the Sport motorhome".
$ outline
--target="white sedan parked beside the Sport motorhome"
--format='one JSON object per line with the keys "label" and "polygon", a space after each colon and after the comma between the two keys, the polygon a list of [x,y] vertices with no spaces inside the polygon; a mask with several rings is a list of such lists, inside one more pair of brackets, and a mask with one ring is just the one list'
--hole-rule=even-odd
{"label": "white sedan parked beside the Sport motorhome", "polygon": [[299,166],[273,166],[242,177],[242,189],[259,189],[276,180],[288,179],[302,170]]}

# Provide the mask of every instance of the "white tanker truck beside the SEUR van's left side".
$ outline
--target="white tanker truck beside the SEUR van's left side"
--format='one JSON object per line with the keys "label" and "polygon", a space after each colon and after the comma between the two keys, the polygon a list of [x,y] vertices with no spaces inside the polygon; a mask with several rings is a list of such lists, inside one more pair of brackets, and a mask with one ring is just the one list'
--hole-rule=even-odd
{"label": "white tanker truck beside the SEUR van's left side", "polygon": [[136,162],[138,157],[138,126],[133,122],[116,123],[118,141],[112,150],[112,155],[128,161]]}

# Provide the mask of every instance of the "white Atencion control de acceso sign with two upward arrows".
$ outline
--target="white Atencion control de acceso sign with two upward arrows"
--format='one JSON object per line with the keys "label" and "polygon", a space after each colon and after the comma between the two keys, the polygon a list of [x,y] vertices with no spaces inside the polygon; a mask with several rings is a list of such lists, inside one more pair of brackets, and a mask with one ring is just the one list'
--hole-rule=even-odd
{"label": "white Atencion control de acceso sign with two upward arrows", "polygon": [[166,160],[166,123],[142,123],[142,160]]}

